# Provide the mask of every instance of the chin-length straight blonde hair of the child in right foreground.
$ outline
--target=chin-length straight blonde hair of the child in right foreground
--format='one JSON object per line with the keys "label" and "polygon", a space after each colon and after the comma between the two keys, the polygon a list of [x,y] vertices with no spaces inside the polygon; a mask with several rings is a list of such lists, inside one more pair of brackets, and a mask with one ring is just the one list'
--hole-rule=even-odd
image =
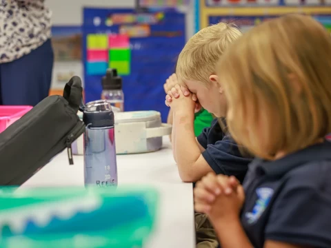
{"label": "chin-length straight blonde hair of the child in right foreground", "polygon": [[244,34],[217,64],[234,139],[266,159],[319,141],[331,132],[330,70],[330,34],[311,17],[290,14]]}

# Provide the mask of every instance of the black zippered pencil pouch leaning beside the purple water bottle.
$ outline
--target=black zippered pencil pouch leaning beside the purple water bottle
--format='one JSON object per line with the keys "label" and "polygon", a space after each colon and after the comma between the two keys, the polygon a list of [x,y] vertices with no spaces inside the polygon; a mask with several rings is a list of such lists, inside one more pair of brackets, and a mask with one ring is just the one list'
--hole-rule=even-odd
{"label": "black zippered pencil pouch leaning beside the purple water bottle", "polygon": [[21,185],[85,130],[77,112],[81,79],[72,77],[63,96],[48,96],[0,134],[0,185]]}

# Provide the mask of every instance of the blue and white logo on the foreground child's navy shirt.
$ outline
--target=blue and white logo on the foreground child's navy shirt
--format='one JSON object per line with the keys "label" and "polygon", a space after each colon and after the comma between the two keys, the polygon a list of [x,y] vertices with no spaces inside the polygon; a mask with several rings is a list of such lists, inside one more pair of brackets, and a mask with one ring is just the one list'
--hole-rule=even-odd
{"label": "blue and white logo on the foreground child's navy shirt", "polygon": [[248,220],[249,224],[256,222],[260,218],[273,194],[274,189],[270,189],[269,187],[257,189],[257,201],[255,202],[253,210],[245,213],[245,218]]}

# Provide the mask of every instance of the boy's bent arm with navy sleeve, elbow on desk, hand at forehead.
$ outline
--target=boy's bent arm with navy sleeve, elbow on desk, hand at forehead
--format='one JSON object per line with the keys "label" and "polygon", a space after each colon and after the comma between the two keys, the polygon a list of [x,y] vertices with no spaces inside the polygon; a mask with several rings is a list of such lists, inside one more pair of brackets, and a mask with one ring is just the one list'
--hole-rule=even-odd
{"label": "boy's bent arm with navy sleeve, elbow on desk, hand at forehead", "polygon": [[[217,119],[212,124],[213,128],[206,128],[195,138],[194,101],[182,93],[178,99],[168,95],[167,99],[169,98],[172,101],[166,100],[165,104],[174,112],[173,127],[176,129],[172,136],[172,152],[181,180],[196,182],[208,172],[233,175],[243,180],[252,158],[243,157],[237,143],[230,136],[224,136]],[[212,136],[212,142],[209,141],[209,136]]]}

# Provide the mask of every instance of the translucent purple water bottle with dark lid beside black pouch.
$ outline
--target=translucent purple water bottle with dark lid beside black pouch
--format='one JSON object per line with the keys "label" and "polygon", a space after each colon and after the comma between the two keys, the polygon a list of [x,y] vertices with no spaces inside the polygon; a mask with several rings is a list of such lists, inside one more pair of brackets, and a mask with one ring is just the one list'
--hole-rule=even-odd
{"label": "translucent purple water bottle with dark lid beside black pouch", "polygon": [[106,100],[87,103],[83,112],[86,186],[117,185],[114,113]]}

